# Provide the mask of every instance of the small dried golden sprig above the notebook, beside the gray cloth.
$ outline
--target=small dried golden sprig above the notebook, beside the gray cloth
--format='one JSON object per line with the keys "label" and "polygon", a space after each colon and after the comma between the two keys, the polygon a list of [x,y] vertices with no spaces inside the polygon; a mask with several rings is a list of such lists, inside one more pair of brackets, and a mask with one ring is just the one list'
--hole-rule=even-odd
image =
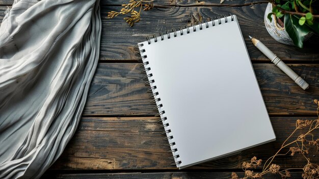
{"label": "small dried golden sprig above the notebook, beside the gray cloth", "polygon": [[[116,11],[111,11],[108,12],[108,18],[114,18],[120,14],[124,15],[124,14],[128,14],[130,13],[130,17],[124,17],[124,20],[129,24],[130,27],[132,27],[134,25],[134,23],[139,22],[141,19],[141,11],[142,8],[145,7],[143,10],[144,11],[148,11],[151,10],[154,7],[153,4],[154,0],[149,0],[149,1],[145,1],[145,0],[130,0],[128,2],[128,4],[123,4],[123,8],[121,9],[120,12],[116,12]],[[134,8],[139,8],[140,10],[139,12],[134,10]]]}

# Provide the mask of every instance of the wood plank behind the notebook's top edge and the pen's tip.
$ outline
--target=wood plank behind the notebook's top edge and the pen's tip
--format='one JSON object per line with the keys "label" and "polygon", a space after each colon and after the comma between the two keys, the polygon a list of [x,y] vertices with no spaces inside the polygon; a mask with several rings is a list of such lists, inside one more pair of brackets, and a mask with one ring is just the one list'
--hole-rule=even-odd
{"label": "wood plank behind the notebook's top edge and the pen's tip", "polygon": [[[107,19],[107,12],[119,10],[120,7],[102,7],[102,37],[101,37],[101,60],[132,60],[136,59],[132,49],[138,42],[146,40],[147,36],[156,35],[159,32],[183,27],[191,22],[191,15],[201,14],[203,19],[216,17],[223,14],[235,14],[241,25],[241,30],[252,61],[269,62],[259,50],[253,46],[248,35],[256,37],[264,42],[275,54],[286,61],[318,62],[319,54],[311,44],[318,44],[318,40],[309,41],[304,49],[282,45],[275,41],[264,26],[263,15],[267,4],[256,4],[243,7],[172,7],[156,8],[143,12],[142,19],[134,27],[128,27],[122,17]],[[227,38],[227,37],[225,37]],[[214,42],[218,43],[218,42]],[[196,44],[196,45],[200,45]],[[314,45],[315,46],[315,45]]]}

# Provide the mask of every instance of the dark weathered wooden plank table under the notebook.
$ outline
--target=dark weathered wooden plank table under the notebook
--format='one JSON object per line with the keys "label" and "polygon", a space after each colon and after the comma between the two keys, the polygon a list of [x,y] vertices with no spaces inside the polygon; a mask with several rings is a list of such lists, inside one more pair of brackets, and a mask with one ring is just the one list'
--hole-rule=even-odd
{"label": "dark weathered wooden plank table under the notebook", "polygon": [[[318,38],[308,41],[304,49],[276,42],[264,27],[267,2],[226,0],[220,4],[219,0],[155,0],[157,8],[143,12],[141,22],[130,28],[123,17],[107,18],[107,12],[119,10],[127,1],[101,0],[100,60],[83,117],[63,155],[44,178],[230,178],[231,171],[241,173],[242,163],[253,156],[265,160],[275,154],[294,130],[296,119],[316,118],[313,99],[319,98]],[[0,20],[6,6],[12,3],[13,0],[0,0]],[[164,147],[167,141],[160,134],[161,124],[153,117],[156,112],[149,103],[133,46],[153,33],[192,23],[192,14],[207,19],[229,13],[237,15],[240,22],[277,141],[244,150],[239,155],[178,170],[168,160],[171,154]],[[248,35],[262,40],[304,77],[310,88],[304,91],[291,81],[253,46]],[[229,111],[232,108],[235,107],[230,103]],[[318,163],[318,156],[309,157]],[[305,165],[298,156],[279,157],[275,162],[282,168]],[[296,171],[294,176],[300,177],[301,173]]]}

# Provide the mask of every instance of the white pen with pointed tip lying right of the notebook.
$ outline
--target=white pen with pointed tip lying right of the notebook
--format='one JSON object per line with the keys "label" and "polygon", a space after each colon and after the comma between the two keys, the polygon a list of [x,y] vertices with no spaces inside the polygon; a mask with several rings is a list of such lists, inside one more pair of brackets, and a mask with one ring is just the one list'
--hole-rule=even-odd
{"label": "white pen with pointed tip lying right of the notebook", "polygon": [[267,46],[261,43],[259,40],[249,36],[253,44],[265,55],[267,56],[275,65],[277,65],[284,73],[286,73],[291,79],[294,80],[302,89],[308,89],[309,84],[302,79],[295,71],[289,68],[283,61],[280,60]]}

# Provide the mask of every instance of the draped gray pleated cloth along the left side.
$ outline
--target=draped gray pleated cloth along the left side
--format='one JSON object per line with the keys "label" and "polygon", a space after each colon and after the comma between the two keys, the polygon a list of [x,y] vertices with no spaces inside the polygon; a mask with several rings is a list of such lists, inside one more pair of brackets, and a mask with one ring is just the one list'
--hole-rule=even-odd
{"label": "draped gray pleated cloth along the left side", "polygon": [[99,0],[18,0],[0,27],[0,178],[38,178],[74,134],[95,72]]}

